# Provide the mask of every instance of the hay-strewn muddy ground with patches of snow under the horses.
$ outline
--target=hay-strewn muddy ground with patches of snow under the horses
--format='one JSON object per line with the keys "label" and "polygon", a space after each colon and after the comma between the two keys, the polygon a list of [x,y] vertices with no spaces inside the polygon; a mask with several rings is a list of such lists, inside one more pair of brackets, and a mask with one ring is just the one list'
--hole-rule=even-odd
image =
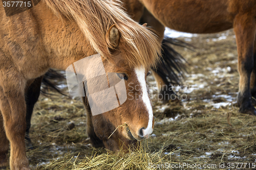
{"label": "hay-strewn muddy ground with patches of snow under the horses", "polygon": [[[175,86],[180,98],[165,104],[152,99],[155,128],[141,151],[120,157],[93,148],[81,100],[52,92],[40,95],[34,109],[34,148],[27,150],[32,169],[153,169],[165,163],[167,169],[195,169],[195,164],[198,169],[253,167],[256,117],[239,113],[236,106],[239,74],[233,31],[178,39],[196,47],[175,47],[187,61],[182,86]],[[152,75],[148,81],[155,85]],[[59,87],[67,93],[65,85]],[[187,164],[174,166],[179,163]]]}

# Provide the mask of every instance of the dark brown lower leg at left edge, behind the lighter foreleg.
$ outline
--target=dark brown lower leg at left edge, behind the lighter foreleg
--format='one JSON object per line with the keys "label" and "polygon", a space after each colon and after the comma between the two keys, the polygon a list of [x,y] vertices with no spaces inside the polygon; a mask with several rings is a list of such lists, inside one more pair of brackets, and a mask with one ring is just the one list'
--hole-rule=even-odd
{"label": "dark brown lower leg at left edge, behind the lighter foreleg", "polygon": [[5,169],[8,165],[9,140],[6,137],[4,129],[4,120],[0,110],[0,169]]}

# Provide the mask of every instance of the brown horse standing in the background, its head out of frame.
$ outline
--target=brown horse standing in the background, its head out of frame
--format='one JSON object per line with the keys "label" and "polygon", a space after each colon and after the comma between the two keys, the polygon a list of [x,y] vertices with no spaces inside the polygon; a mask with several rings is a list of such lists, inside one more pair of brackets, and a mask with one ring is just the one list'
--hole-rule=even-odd
{"label": "brown horse standing in the background, its head out of frame", "polygon": [[[251,104],[251,96],[256,97],[255,1],[123,0],[123,3],[131,16],[135,15],[135,19],[148,23],[160,38],[163,37],[165,27],[199,34],[233,28],[240,74],[239,111],[256,115]],[[163,79],[163,76],[157,76],[158,84],[165,85]]]}

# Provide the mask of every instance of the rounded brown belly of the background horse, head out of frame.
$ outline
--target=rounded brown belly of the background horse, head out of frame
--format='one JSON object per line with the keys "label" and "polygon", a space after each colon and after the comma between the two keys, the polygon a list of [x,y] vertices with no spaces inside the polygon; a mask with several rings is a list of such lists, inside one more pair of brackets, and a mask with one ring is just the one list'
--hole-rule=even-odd
{"label": "rounded brown belly of the background horse, head out of frame", "polygon": [[215,33],[232,28],[227,1],[158,0],[154,7],[147,5],[164,26],[177,31]]}

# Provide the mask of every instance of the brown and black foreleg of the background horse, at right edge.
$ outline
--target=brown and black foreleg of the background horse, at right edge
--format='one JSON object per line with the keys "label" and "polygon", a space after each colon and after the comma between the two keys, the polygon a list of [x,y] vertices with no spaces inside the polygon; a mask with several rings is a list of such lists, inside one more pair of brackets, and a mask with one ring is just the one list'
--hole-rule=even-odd
{"label": "brown and black foreleg of the background horse, at right edge", "polygon": [[238,105],[241,113],[256,115],[251,104],[250,76],[253,69],[253,43],[255,19],[249,14],[238,14],[234,19],[234,33],[238,48],[238,70],[240,75]]}

